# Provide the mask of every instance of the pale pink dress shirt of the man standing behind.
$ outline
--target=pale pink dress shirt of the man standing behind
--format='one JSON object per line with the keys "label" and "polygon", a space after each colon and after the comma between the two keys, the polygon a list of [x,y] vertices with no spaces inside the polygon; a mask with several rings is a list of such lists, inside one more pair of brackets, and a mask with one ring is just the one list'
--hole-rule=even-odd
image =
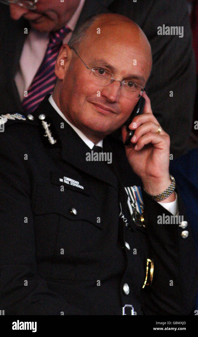
{"label": "pale pink dress shirt of the man standing behind", "polygon": [[[80,13],[83,9],[85,0],[80,0],[80,3],[73,14],[72,18],[68,21],[67,26],[71,29],[63,39],[63,44],[68,43],[72,32],[75,29]],[[19,61],[19,71],[15,74],[14,80],[19,92],[21,101],[24,99],[24,91],[28,90],[38,68],[47,50],[49,42],[48,32],[38,32],[35,29],[30,29],[25,40],[23,50]]]}

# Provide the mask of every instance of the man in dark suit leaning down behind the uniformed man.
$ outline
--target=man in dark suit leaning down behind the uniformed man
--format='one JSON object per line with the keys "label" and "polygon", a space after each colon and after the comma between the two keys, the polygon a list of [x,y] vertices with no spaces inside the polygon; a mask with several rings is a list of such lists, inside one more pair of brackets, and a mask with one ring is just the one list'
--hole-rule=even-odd
{"label": "man in dark suit leaning down behind the uniformed man", "polygon": [[[25,7],[10,4],[9,13],[8,6],[0,4],[1,113],[14,109],[23,111],[24,91],[29,89],[47,49],[48,35],[45,32],[48,34],[68,23],[72,31],[94,14],[120,13],[134,20],[151,44],[153,69],[147,92],[155,117],[170,135],[170,152],[177,156],[188,150],[195,95],[195,64],[185,0],[50,0],[47,4],[39,0],[36,6],[35,12],[31,12]],[[183,27],[184,36],[158,35],[158,27],[163,25]],[[24,30],[27,28],[28,32]],[[71,32],[67,36],[69,38]],[[65,39],[67,43],[67,37]]]}

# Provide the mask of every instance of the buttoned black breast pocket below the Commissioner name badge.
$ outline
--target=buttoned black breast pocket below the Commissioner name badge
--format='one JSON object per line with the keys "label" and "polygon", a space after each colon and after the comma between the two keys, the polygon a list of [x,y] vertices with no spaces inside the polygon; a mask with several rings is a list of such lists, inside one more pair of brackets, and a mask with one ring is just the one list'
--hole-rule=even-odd
{"label": "buttoned black breast pocket below the Commissioner name badge", "polygon": [[[38,184],[35,201],[37,248],[54,261],[83,262],[102,251],[101,205],[83,190]],[[44,256],[43,256],[44,257]]]}

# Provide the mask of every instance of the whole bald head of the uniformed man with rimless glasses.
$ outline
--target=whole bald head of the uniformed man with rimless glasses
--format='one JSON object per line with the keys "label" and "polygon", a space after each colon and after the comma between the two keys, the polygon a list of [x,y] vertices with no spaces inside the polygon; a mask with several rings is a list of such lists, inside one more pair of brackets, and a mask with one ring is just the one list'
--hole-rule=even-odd
{"label": "whole bald head of the uniformed man with rimless glasses", "polygon": [[151,47],[138,25],[119,14],[100,14],[61,48],[53,97],[96,144],[129,118],[151,67]]}

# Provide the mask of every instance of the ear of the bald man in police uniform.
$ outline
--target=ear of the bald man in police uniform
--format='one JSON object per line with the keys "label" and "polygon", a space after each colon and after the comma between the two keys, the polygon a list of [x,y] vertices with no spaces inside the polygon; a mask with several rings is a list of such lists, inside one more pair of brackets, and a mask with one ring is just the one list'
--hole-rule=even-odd
{"label": "ear of the bald man in police uniform", "polygon": [[59,80],[63,80],[71,59],[71,49],[67,44],[62,45],[55,64],[55,74]]}

